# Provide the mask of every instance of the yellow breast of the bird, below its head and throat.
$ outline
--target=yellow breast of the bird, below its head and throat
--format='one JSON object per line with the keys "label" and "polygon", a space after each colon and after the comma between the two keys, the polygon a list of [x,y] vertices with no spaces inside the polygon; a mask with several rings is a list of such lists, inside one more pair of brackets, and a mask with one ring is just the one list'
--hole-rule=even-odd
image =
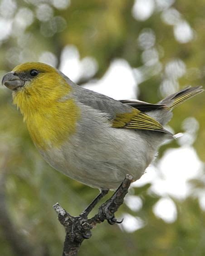
{"label": "yellow breast of the bird, below its head and throat", "polygon": [[79,109],[72,99],[56,103],[26,118],[30,136],[36,146],[46,150],[60,147],[76,131]]}

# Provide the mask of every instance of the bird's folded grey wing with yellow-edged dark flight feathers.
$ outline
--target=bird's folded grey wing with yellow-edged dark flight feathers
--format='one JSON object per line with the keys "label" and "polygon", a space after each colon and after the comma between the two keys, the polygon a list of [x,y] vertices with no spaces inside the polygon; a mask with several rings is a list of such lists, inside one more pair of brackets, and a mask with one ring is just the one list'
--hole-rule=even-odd
{"label": "bird's folded grey wing with yellow-edged dark flight feathers", "polygon": [[[75,87],[75,92],[73,94],[78,98],[79,102],[107,113],[110,116],[112,127],[114,128],[129,128],[169,133],[163,128],[161,123],[137,108],[138,103],[140,106],[139,108],[141,109],[143,108],[143,105],[146,105],[146,108],[144,107],[146,110],[161,108],[161,105],[155,106],[154,104],[139,101],[118,101],[80,86]],[[135,106],[127,104],[131,102],[132,104],[134,103]]]}

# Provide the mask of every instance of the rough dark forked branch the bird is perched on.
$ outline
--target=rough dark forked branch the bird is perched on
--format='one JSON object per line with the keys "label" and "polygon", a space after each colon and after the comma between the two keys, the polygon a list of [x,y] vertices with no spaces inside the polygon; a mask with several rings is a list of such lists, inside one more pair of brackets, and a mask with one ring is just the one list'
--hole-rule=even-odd
{"label": "rough dark forked branch the bird is perched on", "polygon": [[89,239],[92,236],[91,229],[93,229],[96,224],[104,222],[104,220],[107,220],[111,225],[122,222],[117,221],[114,213],[117,212],[118,208],[123,203],[132,181],[133,177],[127,174],[112,197],[103,203],[99,207],[98,213],[90,219],[85,218],[83,215],[73,217],[66,212],[59,203],[54,205],[54,210],[58,214],[59,222],[65,227],[66,231],[62,256],[78,255],[83,240]]}

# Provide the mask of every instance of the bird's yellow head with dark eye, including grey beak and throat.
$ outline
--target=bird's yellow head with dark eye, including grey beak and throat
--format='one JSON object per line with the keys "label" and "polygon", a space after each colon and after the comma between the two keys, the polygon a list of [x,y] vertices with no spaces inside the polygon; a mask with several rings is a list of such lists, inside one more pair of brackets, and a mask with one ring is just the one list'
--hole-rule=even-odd
{"label": "bird's yellow head with dark eye, including grey beak and throat", "polygon": [[16,66],[4,75],[2,84],[13,91],[14,103],[21,110],[25,104],[27,108],[29,104],[49,106],[72,89],[57,69],[36,62]]}

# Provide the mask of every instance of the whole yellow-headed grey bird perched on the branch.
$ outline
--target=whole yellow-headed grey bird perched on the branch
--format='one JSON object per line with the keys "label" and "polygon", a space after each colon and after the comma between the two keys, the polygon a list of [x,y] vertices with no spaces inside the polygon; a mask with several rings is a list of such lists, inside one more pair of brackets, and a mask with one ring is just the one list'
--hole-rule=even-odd
{"label": "whole yellow-headed grey bird perched on the branch", "polygon": [[[87,213],[126,174],[138,180],[173,134],[172,110],[200,94],[187,87],[152,104],[115,100],[73,83],[58,69],[28,62],[4,75],[39,153],[54,169],[100,194]],[[86,211],[85,211],[86,212]]]}

